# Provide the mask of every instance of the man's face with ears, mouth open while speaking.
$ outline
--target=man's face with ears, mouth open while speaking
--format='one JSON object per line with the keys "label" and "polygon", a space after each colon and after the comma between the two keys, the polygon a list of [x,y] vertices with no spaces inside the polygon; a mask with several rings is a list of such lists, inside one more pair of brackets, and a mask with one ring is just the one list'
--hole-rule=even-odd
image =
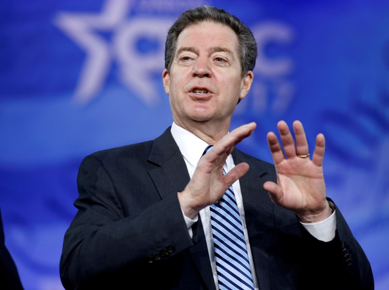
{"label": "man's face with ears, mouth open while speaking", "polygon": [[241,77],[233,30],[202,22],[180,33],[170,74],[164,70],[162,77],[176,124],[188,128],[193,122],[210,120],[229,126],[238,100],[250,89],[253,73]]}

